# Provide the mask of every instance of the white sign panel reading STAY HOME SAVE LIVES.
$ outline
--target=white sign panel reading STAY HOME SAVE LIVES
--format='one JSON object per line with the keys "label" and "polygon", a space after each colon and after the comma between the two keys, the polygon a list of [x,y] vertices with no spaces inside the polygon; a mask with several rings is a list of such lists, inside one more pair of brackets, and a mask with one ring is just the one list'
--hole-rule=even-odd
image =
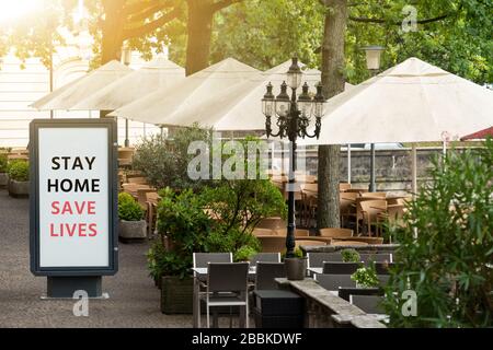
{"label": "white sign panel reading STAY HOME SAVE LIVES", "polygon": [[110,266],[108,166],[107,128],[39,128],[39,268]]}

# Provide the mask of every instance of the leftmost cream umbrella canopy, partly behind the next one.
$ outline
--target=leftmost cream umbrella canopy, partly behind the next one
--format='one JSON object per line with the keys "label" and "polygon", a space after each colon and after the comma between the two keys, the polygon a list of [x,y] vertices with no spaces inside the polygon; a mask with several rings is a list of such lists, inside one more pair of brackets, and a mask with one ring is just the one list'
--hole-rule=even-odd
{"label": "leftmost cream umbrella canopy, partly behind the next one", "polygon": [[[66,109],[76,110],[74,106],[82,100],[88,98],[114,81],[125,77],[133,70],[121,62],[113,60],[96,70],[80,78],[73,83],[65,85],[49,95],[36,101],[32,106],[42,110]],[[46,103],[39,103],[47,101]]]}

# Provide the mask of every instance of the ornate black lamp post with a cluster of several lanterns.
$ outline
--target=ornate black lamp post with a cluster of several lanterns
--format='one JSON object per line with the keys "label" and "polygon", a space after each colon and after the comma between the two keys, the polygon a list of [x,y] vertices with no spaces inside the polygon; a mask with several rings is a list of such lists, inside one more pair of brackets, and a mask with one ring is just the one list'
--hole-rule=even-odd
{"label": "ornate black lamp post with a cluster of several lanterns", "polygon": [[[289,185],[288,185],[288,224],[286,235],[286,257],[295,256],[295,172],[296,172],[296,140],[300,138],[319,138],[322,126],[323,106],[325,97],[322,93],[322,85],[317,86],[317,94],[311,97],[307,83],[302,85],[301,94],[296,91],[301,85],[302,72],[298,66],[298,58],[293,58],[293,65],[287,72],[287,83],[280,85],[280,93],[277,97],[273,94],[273,85],[268,83],[267,92],[262,100],[262,112],[265,115],[265,131],[267,138],[288,138],[289,148]],[[291,89],[291,96],[288,95],[288,88]],[[272,118],[277,116],[277,132],[273,130]],[[309,133],[308,128],[311,117],[314,117],[314,132]]]}

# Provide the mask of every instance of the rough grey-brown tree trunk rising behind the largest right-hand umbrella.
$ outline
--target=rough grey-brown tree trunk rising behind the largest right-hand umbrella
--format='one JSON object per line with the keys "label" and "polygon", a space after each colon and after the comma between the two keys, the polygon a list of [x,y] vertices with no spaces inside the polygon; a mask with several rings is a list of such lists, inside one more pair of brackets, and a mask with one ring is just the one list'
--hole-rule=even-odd
{"label": "rough grey-brown tree trunk rising behind the largest right-hand umbrella", "polygon": [[[347,0],[325,0],[328,12],[322,43],[322,84],[326,98],[344,91],[344,37]],[[323,121],[322,121],[323,122]],[[318,228],[340,228],[340,145],[319,147]]]}

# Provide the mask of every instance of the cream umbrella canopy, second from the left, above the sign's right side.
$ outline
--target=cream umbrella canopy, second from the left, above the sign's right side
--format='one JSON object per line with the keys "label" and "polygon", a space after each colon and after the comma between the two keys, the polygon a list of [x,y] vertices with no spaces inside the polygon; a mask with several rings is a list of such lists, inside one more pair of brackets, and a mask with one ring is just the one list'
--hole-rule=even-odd
{"label": "cream umbrella canopy, second from the left, above the sign's right side", "polygon": [[157,89],[169,88],[184,78],[185,70],[182,67],[164,57],[157,57],[141,69],[126,74],[81,101],[73,108],[114,110]]}

